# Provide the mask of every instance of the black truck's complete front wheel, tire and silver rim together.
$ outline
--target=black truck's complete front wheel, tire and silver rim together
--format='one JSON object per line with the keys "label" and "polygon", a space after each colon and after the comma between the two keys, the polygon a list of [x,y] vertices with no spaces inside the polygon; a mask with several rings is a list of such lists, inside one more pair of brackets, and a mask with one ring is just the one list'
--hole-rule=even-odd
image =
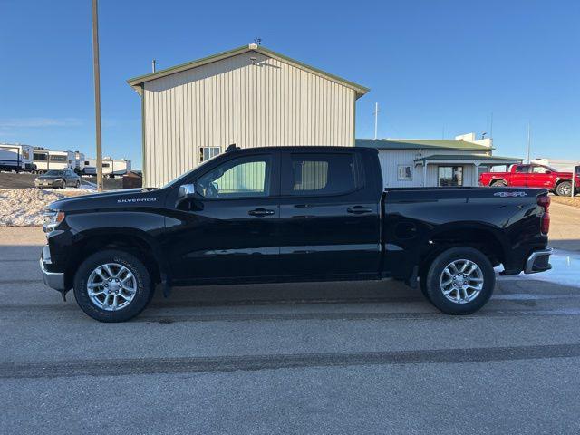
{"label": "black truck's complete front wheel, tire and silver rim together", "polygon": [[82,311],[99,322],[124,322],[149,304],[154,285],[139,258],[120,250],[89,256],[74,276],[74,296]]}

